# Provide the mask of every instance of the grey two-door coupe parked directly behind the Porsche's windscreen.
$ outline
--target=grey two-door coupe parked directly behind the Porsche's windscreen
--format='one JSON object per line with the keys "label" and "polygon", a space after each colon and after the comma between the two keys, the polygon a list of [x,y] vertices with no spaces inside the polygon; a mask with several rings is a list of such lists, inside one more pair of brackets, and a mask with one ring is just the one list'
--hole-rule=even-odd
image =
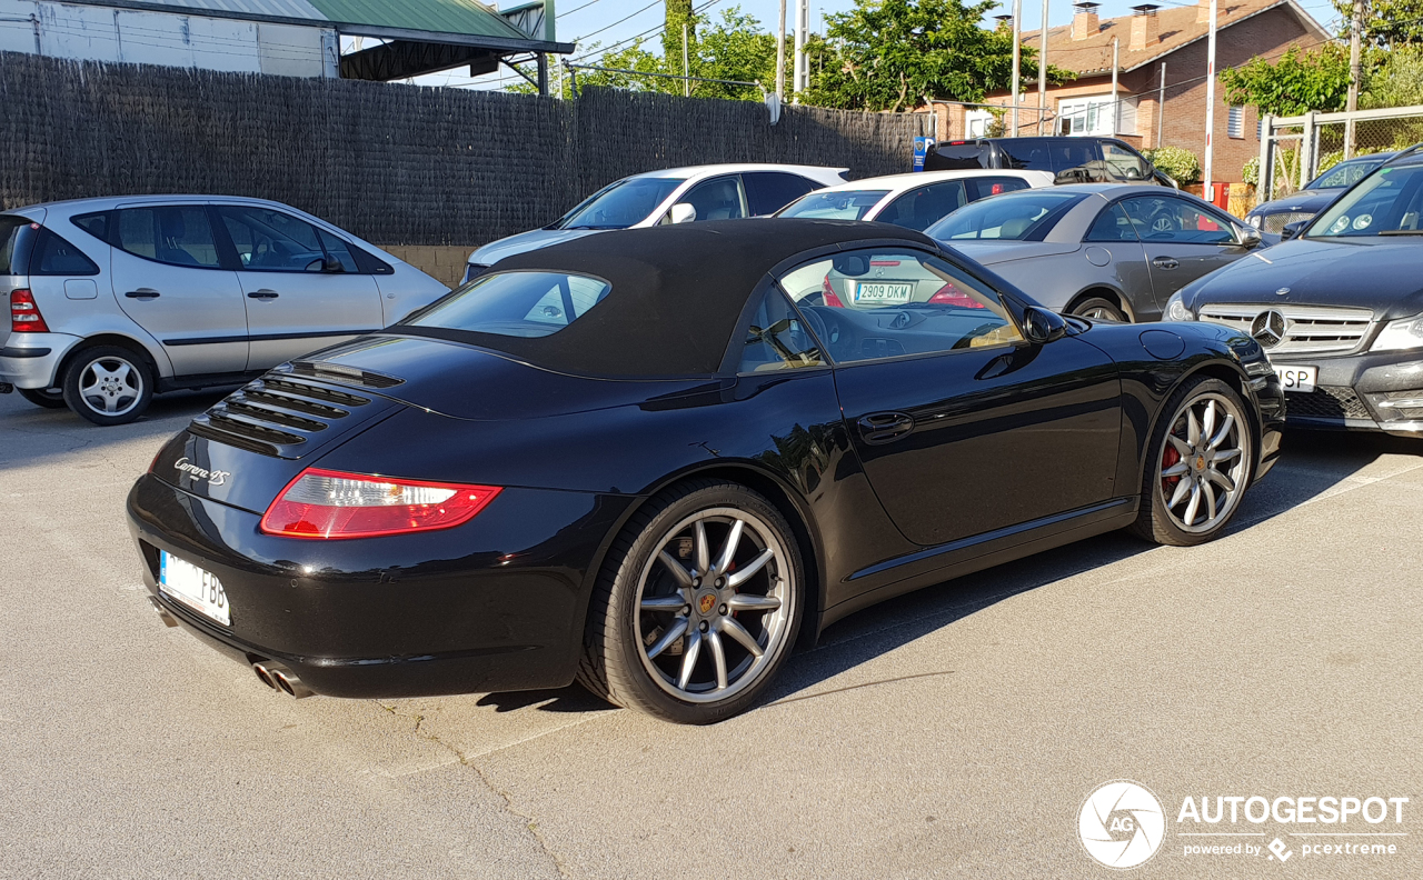
{"label": "grey two-door coupe parked directly behind the Porsche's windscreen", "polygon": [[1154,321],[1187,283],[1276,243],[1177,189],[1073,183],[969,205],[928,235],[1064,314]]}

